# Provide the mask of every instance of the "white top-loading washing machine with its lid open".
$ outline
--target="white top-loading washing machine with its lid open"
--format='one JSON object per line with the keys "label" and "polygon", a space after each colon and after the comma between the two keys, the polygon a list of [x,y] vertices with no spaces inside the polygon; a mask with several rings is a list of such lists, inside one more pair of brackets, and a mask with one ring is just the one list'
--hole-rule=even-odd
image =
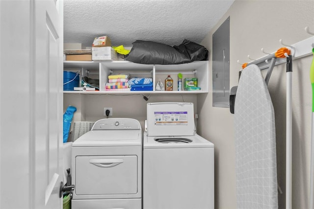
{"label": "white top-loading washing machine with its lid open", "polygon": [[193,103],[147,104],[143,209],[214,209],[214,145],[196,133]]}

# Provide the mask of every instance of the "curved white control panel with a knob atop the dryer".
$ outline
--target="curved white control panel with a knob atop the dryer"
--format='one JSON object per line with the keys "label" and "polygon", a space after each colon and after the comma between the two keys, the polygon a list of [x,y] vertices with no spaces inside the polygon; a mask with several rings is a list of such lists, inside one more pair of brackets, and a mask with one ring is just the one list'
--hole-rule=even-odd
{"label": "curved white control panel with a knob atop the dryer", "polygon": [[132,118],[104,118],[96,121],[91,130],[141,130],[141,125]]}

